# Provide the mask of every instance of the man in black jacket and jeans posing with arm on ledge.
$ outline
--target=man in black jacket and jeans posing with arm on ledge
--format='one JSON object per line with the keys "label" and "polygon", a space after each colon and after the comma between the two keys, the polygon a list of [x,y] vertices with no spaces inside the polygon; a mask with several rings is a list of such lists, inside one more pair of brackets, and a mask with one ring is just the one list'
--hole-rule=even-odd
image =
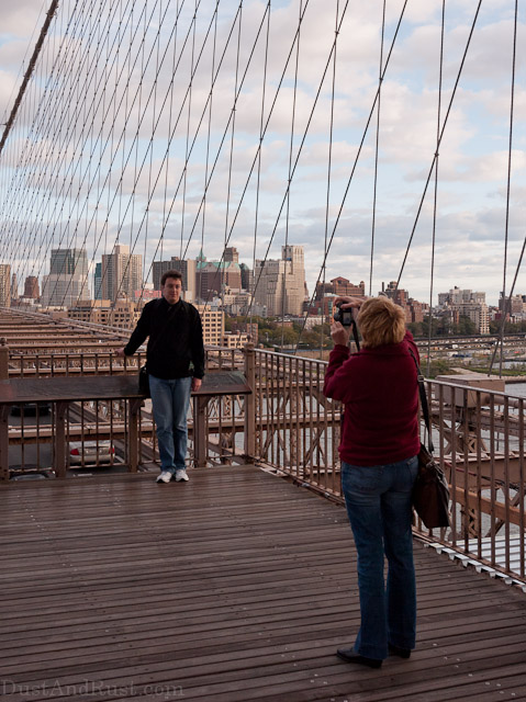
{"label": "man in black jacket and jeans posing with arm on ledge", "polygon": [[149,337],[146,367],[160,455],[157,483],[169,483],[174,475],[188,480],[187,415],[190,392],[201,387],[204,375],[204,346],[199,312],[181,299],[181,273],[167,271],[160,288],[163,297],[144,306],[130,341],[115,353],[133,355]]}

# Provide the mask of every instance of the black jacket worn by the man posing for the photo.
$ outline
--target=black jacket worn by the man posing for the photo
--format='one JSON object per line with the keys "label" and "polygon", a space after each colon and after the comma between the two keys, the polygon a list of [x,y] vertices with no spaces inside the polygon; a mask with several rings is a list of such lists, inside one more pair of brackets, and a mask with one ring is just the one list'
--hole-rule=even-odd
{"label": "black jacket worn by the man posing for the photo", "polygon": [[193,305],[183,299],[170,305],[164,297],[149,302],[144,306],[124,353],[133,355],[146,337],[149,337],[148,373],[164,380],[189,375],[203,377],[203,326]]}

